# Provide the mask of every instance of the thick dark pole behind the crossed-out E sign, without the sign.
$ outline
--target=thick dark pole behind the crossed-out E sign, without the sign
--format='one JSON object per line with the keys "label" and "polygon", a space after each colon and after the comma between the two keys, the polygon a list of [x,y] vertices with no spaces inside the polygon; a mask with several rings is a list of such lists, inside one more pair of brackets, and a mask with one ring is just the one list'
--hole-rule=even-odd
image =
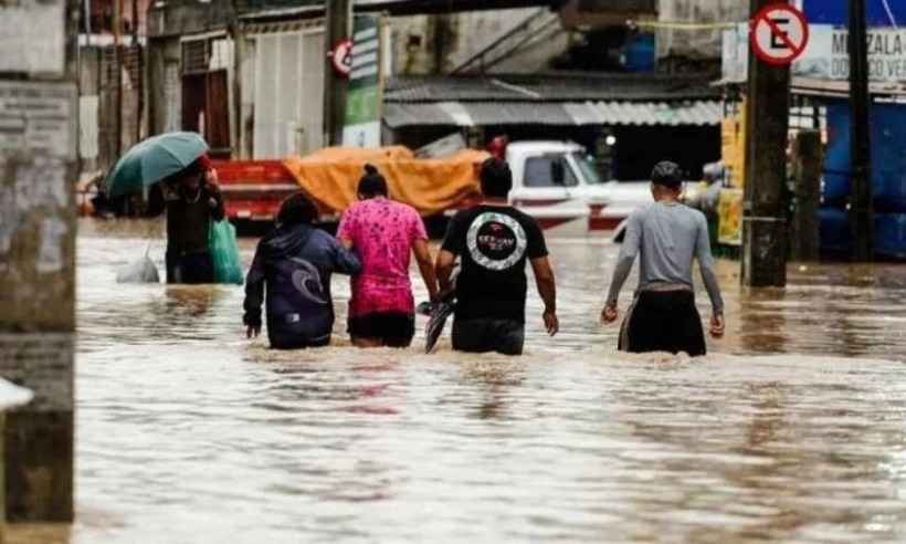
{"label": "thick dark pole behind the crossed-out E sign, without the sign", "polygon": [[[775,0],[750,0],[751,15]],[[787,284],[787,130],[790,69],[759,60],[749,48],[746,94],[746,188],[742,206],[744,285]]]}

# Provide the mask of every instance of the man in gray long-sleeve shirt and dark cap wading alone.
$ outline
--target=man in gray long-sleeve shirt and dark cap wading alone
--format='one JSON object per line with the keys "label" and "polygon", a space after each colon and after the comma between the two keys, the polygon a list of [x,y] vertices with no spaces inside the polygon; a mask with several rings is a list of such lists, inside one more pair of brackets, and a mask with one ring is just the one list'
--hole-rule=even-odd
{"label": "man in gray long-sleeve shirt and dark cap wading alone", "polygon": [[617,297],[641,253],[639,289],[623,321],[619,349],[704,355],[705,335],[692,283],[694,259],[710,297],[710,334],[724,334],[724,301],[714,274],[707,220],[700,211],[680,202],[683,177],[676,164],[659,163],[651,178],[654,203],[629,218],[601,318],[604,323],[617,321]]}

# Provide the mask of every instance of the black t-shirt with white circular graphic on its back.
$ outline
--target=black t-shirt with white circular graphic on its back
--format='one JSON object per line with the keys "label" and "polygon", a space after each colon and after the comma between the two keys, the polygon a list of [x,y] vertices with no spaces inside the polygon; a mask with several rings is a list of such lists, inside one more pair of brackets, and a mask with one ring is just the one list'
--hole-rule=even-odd
{"label": "black t-shirt with white circular graphic on its back", "polygon": [[527,259],[547,257],[537,221],[505,206],[476,206],[450,221],[443,249],[462,260],[456,318],[525,323]]}

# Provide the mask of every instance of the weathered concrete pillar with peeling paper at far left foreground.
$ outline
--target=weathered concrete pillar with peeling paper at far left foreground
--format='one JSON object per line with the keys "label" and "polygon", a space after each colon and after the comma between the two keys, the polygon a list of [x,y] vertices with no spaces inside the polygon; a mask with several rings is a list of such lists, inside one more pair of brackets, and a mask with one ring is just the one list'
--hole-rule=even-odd
{"label": "weathered concrete pillar with peeling paper at far left foreground", "polygon": [[32,29],[0,73],[0,376],[34,391],[7,416],[11,521],[73,519],[77,10],[0,4],[0,33]]}

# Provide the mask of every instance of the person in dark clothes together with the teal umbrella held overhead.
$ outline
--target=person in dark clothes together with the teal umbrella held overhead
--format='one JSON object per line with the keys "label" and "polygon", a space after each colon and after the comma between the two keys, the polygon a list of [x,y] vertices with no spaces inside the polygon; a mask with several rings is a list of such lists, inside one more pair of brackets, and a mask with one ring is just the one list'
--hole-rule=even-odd
{"label": "person in dark clothes together with the teal umbrella held overhead", "polygon": [[225,212],[208,144],[196,133],[167,133],[129,149],[110,170],[110,198],[149,189],[147,216],[167,213],[167,283],[213,283],[211,221]]}

